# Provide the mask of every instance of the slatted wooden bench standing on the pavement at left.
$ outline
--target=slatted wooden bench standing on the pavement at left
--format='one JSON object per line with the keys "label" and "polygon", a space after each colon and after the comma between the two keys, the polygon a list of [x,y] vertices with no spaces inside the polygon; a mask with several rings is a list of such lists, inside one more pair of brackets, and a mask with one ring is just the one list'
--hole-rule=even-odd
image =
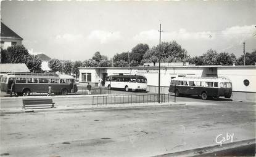
{"label": "slatted wooden bench standing on the pavement at left", "polygon": [[53,108],[52,99],[23,99],[22,109],[45,109]]}

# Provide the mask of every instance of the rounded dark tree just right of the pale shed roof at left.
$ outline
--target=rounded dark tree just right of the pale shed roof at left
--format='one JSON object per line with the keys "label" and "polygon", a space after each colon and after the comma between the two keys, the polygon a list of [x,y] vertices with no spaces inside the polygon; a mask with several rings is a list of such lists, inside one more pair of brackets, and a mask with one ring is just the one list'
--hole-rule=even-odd
{"label": "rounded dark tree just right of the pale shed roof at left", "polygon": [[38,58],[38,56],[28,55],[26,65],[30,72],[42,72],[41,69],[42,61]]}

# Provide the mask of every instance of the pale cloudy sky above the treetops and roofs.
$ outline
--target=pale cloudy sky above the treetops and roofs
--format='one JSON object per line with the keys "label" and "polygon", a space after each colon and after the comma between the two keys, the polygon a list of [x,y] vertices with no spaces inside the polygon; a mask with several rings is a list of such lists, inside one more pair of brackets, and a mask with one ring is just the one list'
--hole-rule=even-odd
{"label": "pale cloudy sky above the treetops and roofs", "polygon": [[34,53],[84,61],[176,40],[191,56],[256,50],[256,1],[1,1],[1,19]]}

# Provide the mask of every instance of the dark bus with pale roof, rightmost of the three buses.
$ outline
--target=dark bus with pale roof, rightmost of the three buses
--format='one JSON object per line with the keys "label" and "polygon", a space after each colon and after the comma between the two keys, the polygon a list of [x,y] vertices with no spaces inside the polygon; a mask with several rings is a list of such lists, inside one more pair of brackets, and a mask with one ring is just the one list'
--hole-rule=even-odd
{"label": "dark bus with pale roof, rightmost of the three buses", "polygon": [[169,88],[170,93],[175,93],[176,96],[184,95],[199,95],[202,99],[209,97],[231,98],[232,83],[231,80],[215,77],[176,77],[171,79]]}

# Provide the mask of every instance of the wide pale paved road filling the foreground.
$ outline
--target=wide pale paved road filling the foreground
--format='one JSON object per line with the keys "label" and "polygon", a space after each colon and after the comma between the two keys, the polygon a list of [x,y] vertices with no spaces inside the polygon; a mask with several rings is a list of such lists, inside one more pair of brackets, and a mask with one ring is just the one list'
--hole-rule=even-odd
{"label": "wide pale paved road filling the foreground", "polygon": [[[186,105],[1,116],[1,154],[9,156],[153,156],[255,137],[255,104],[186,100]],[[61,98],[78,105],[84,99]],[[15,105],[18,102],[11,102]],[[2,105],[2,103],[1,103]],[[229,141],[230,142],[230,141]]]}

